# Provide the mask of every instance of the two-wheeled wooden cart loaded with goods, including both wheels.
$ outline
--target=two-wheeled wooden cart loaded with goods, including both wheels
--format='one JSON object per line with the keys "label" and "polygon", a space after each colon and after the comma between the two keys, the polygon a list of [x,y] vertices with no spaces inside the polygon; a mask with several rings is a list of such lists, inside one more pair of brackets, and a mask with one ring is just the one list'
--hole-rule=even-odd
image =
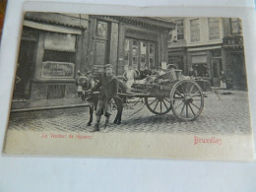
{"label": "two-wheeled wooden cart loaded with goods, including both wheels", "polygon": [[143,98],[154,114],[163,115],[172,110],[181,121],[193,121],[204,108],[201,87],[193,80],[182,79],[181,70],[170,69],[161,76],[148,77],[144,83],[135,83],[132,92],[121,94]]}

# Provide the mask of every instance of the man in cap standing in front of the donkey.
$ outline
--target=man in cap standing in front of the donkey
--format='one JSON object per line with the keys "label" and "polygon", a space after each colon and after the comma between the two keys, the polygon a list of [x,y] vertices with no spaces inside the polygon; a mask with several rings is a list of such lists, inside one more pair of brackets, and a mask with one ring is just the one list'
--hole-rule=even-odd
{"label": "man in cap standing in front of the donkey", "polygon": [[96,105],[96,125],[91,132],[99,131],[99,123],[101,115],[105,116],[104,127],[100,129],[101,132],[107,132],[107,126],[109,123],[109,117],[111,115],[111,99],[117,96],[118,81],[117,78],[112,74],[112,65],[105,65],[105,73],[101,80],[91,90],[92,92],[100,88],[98,94],[98,102]]}

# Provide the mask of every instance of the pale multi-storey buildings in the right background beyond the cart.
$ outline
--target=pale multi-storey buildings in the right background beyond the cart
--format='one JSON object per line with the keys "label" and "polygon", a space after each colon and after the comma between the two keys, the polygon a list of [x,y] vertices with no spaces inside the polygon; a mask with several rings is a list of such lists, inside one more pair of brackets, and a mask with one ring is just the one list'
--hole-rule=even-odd
{"label": "pale multi-storey buildings in the right background beyond the cart", "polygon": [[220,86],[222,72],[228,85],[246,90],[241,21],[229,18],[177,18],[168,38],[168,62],[212,86]]}

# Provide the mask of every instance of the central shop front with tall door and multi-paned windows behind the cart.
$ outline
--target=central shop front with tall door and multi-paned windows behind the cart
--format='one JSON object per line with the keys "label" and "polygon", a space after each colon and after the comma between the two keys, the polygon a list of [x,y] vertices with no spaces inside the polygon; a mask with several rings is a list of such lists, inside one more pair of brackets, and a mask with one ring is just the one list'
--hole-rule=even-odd
{"label": "central shop front with tall door and multi-paned windows behind the cart", "polygon": [[158,69],[167,62],[167,35],[172,23],[153,18],[90,16],[89,62],[95,74],[106,63],[122,77],[128,66],[136,70]]}

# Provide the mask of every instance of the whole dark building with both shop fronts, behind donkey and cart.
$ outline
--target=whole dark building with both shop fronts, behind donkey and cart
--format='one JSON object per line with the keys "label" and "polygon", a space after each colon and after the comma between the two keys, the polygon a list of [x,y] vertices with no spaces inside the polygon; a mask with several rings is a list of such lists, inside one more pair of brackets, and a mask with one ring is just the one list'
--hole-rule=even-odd
{"label": "whole dark building with both shop fronts, behind donkey and cart", "polygon": [[175,25],[155,18],[29,12],[21,37],[14,98],[76,96],[77,71],[98,74],[105,64],[122,76],[128,65],[157,69],[167,62]]}

